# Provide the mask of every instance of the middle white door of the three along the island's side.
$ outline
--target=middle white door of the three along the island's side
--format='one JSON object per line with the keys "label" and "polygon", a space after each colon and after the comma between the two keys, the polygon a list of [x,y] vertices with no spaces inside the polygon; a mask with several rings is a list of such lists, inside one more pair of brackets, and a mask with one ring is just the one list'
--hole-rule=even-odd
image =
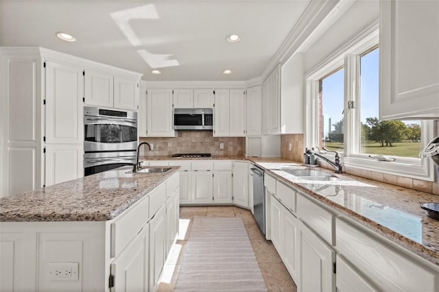
{"label": "middle white door of the three along the island's side", "polygon": [[158,282],[166,256],[166,207],[161,206],[150,221],[150,289]]}

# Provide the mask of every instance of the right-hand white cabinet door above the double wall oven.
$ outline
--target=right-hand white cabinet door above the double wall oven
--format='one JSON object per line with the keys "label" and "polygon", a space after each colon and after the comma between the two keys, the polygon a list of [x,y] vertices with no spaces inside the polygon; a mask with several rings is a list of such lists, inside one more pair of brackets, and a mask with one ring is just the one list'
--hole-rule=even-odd
{"label": "right-hand white cabinet door above the double wall oven", "polygon": [[115,77],[115,108],[139,108],[139,80]]}

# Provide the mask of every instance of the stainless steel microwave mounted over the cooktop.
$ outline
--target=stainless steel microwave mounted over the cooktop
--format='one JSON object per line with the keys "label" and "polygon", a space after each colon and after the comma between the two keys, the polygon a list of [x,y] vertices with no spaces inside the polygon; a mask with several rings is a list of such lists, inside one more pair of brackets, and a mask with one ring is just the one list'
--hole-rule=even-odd
{"label": "stainless steel microwave mounted over the cooktop", "polygon": [[175,130],[213,130],[213,109],[176,108],[174,109]]}

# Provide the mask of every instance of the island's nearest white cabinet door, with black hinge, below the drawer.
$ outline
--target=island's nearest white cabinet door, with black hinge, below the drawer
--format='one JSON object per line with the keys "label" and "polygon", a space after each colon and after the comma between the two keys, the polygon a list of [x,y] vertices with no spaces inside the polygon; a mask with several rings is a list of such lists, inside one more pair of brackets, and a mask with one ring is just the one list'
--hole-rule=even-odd
{"label": "island's nearest white cabinet door, with black hinge, below the drawer", "polygon": [[149,291],[149,226],[146,224],[111,264],[115,278],[113,292]]}

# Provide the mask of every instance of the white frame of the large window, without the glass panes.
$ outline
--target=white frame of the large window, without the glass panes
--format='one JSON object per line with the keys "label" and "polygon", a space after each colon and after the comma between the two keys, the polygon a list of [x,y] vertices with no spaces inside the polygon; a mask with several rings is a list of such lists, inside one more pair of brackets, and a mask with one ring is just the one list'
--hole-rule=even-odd
{"label": "white frame of the large window, without the glass panes", "polygon": [[[344,67],[344,152],[343,165],[349,168],[377,171],[400,175],[418,180],[434,181],[434,165],[428,158],[396,158],[394,162],[383,162],[361,154],[360,139],[360,62],[361,53],[378,45],[378,23],[374,23],[364,32],[353,38],[346,45],[335,51],[329,58],[320,63],[305,75],[306,80],[306,134],[305,142],[308,147],[318,145],[318,85],[319,80],[335,69]],[[348,101],[354,101],[354,108],[348,109]],[[421,149],[434,138],[433,121],[421,121]],[[333,159],[333,154],[327,155]]]}

